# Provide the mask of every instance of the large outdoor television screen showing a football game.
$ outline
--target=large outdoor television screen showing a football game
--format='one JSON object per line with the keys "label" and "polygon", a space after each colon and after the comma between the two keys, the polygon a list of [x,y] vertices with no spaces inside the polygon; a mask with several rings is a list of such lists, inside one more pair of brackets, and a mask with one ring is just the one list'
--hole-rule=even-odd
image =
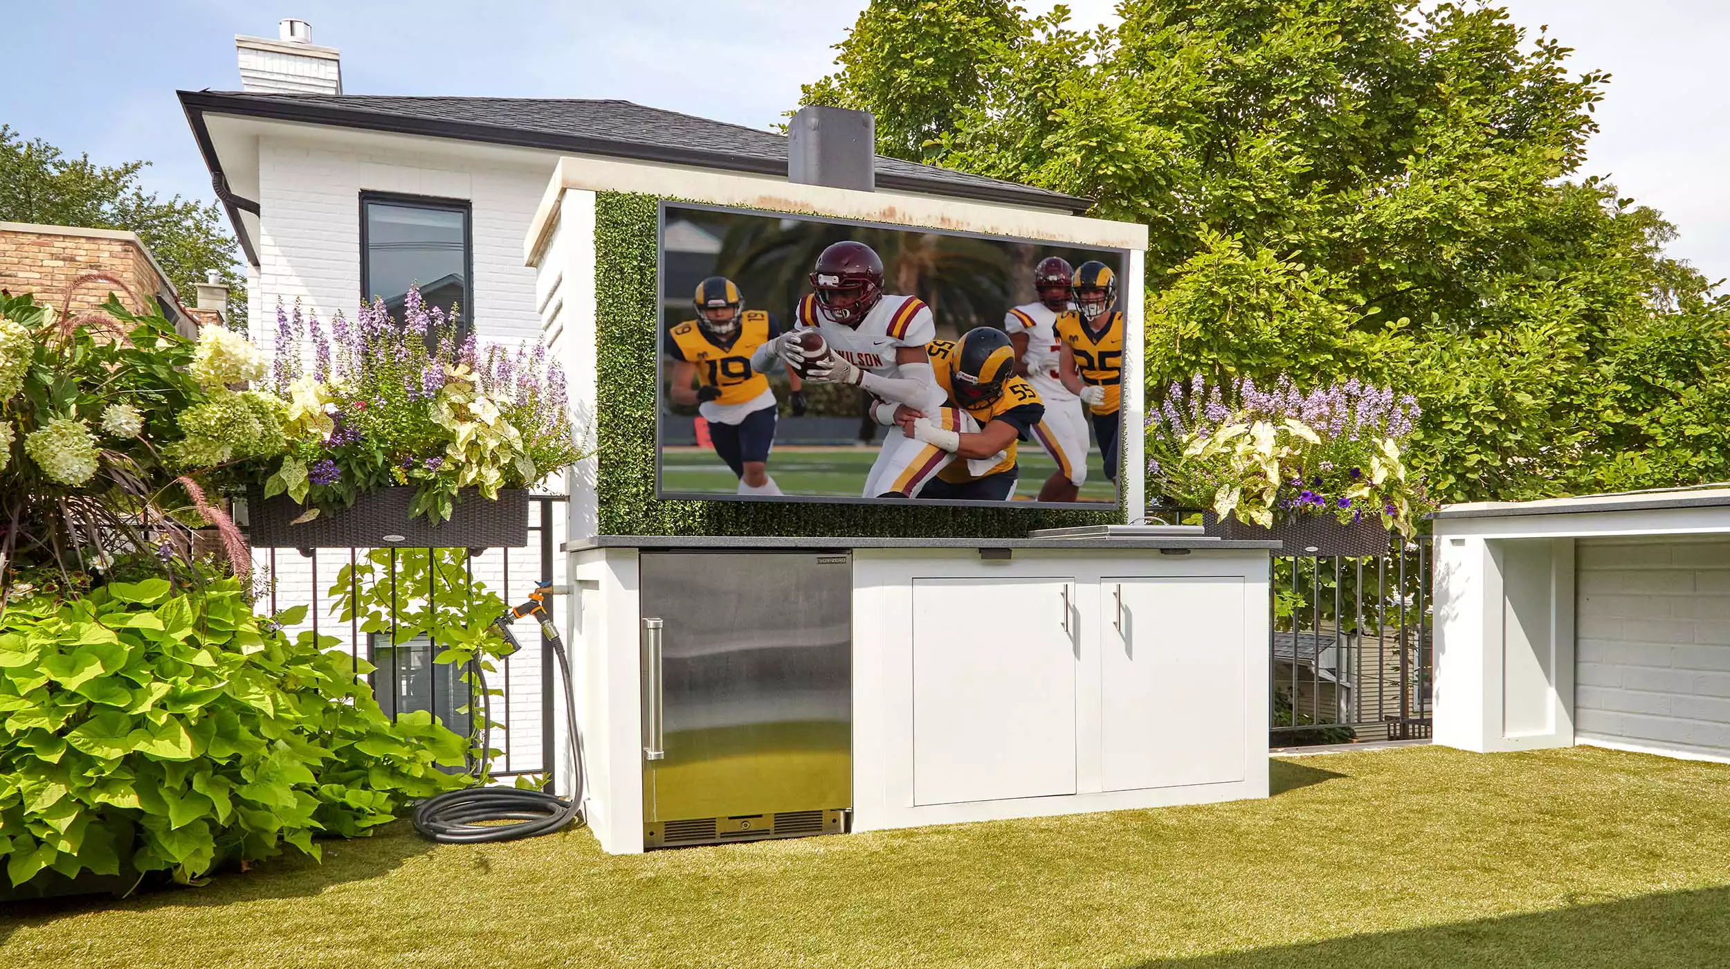
{"label": "large outdoor television screen showing a football game", "polygon": [[663,202],[659,495],[1114,504],[1124,266]]}

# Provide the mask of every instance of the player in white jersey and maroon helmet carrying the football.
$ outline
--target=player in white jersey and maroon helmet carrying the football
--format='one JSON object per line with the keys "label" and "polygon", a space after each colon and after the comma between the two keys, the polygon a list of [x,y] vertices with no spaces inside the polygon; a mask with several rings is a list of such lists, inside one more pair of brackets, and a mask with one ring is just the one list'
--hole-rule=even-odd
{"label": "player in white jersey and maroon helmet carrying the football", "polygon": [[[817,256],[811,292],[799,301],[798,325],[763,344],[753,365],[768,365],[778,355],[787,369],[808,381],[865,388],[875,400],[870,414],[877,424],[894,427],[894,410],[908,407],[926,419],[938,417],[946,395],[931,370],[926,344],[938,327],[931,308],[917,296],[882,291],[882,260],[863,242],[836,242]],[[825,348],[808,355],[799,343],[817,330]],[[907,483],[908,448],[882,448],[865,478],[867,498],[912,498]]]}

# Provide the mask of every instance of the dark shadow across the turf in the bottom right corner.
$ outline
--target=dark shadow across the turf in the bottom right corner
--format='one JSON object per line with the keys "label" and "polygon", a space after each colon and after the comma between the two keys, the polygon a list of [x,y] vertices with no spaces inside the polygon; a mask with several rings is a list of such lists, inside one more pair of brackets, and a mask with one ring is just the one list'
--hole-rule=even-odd
{"label": "dark shadow across the turf in the bottom right corner", "polygon": [[[1567,908],[1529,915],[1344,936],[1199,959],[1161,959],[1121,969],[1730,966],[1730,888],[1642,895],[1607,903],[1588,902],[1574,898]],[[1365,905],[1374,903],[1374,898],[1365,900]]]}

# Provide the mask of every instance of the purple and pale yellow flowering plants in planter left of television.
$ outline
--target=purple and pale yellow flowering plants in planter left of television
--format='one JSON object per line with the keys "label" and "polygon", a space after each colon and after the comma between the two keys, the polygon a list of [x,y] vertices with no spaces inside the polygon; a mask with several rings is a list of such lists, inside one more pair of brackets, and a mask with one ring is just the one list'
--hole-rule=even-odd
{"label": "purple and pale yellow flowering plants in planter left of television", "polygon": [[497,498],[581,460],[564,374],[545,348],[458,341],[460,318],[415,287],[396,311],[374,299],[327,327],[279,308],[270,374],[289,448],[266,495],[311,505],[310,517],[412,486],[412,514],[439,523],[464,490]]}

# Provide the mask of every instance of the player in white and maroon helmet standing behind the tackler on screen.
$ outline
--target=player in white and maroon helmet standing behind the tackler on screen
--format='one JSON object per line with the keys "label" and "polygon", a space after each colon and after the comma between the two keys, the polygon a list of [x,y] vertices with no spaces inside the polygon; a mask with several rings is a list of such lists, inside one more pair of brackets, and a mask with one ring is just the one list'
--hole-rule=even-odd
{"label": "player in white and maroon helmet standing behind the tackler on screen", "polygon": [[1057,339],[1057,315],[1069,310],[1069,263],[1047,256],[1033,266],[1036,303],[1024,303],[1003,315],[1003,329],[1016,346],[1016,372],[1028,377],[1045,401],[1045,420],[1033,427],[1033,440],[1052,455],[1057,471],[1040,486],[1041,502],[1073,502],[1086,483],[1086,414],[1081,408],[1081,374],[1069,344]]}

